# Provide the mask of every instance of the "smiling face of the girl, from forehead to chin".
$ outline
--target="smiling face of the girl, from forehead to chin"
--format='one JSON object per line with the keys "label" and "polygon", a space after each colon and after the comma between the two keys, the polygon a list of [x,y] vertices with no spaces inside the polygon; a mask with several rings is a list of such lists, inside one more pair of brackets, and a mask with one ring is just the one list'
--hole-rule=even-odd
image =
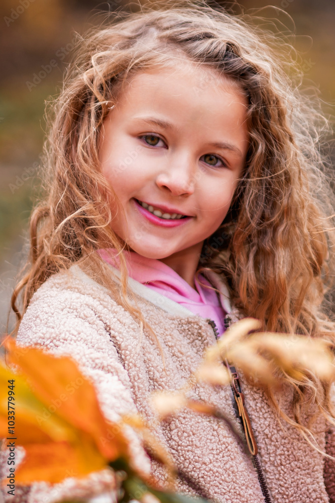
{"label": "smiling face of the girl, from forehead to chin", "polygon": [[188,62],[127,83],[103,123],[99,159],[124,210],[113,206],[113,230],[131,249],[200,255],[243,172],[246,109],[235,82]]}

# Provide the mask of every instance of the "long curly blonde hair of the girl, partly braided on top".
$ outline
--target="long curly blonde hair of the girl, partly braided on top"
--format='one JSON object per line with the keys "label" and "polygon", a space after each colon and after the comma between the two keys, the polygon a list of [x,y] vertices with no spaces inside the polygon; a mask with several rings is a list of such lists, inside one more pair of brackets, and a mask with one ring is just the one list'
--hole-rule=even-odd
{"label": "long curly blonde hair of the girl, partly braided on top", "polygon": [[[234,79],[249,101],[245,172],[228,216],[203,245],[199,270],[224,275],[234,304],[262,320],[264,329],[333,344],[333,325],[321,307],[333,243],[331,193],[319,148],[327,121],[317,102],[301,93],[298,59],[287,41],[242,15],[187,2],[119,14],[80,38],[50,114],[47,196],[32,214],[30,262],[12,299],[19,322],[19,294],[24,312],[48,277],[79,262],[146,326],[129,297],[126,243],[111,226],[106,203],[117,195],[98,161],[100,126],[127,79],[180,54]],[[120,256],[120,290],[95,253],[107,247]],[[308,397],[332,421],[330,385],[313,376],[287,381],[295,414],[294,421],[287,420],[303,435],[310,433],[301,420]]]}

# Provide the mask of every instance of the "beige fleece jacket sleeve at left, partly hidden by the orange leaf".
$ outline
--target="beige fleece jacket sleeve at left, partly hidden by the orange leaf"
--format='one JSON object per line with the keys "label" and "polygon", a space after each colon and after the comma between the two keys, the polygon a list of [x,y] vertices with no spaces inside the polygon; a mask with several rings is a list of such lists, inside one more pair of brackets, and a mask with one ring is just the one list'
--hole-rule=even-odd
{"label": "beige fleece jacket sleeve at left, partly hidden by the orange leaf", "polygon": [[[22,318],[17,342],[20,346],[41,347],[55,356],[70,356],[93,383],[107,420],[119,422],[124,415],[137,413],[132,383],[114,344],[115,338],[126,333],[129,337],[140,337],[136,321],[107,289],[73,267],[50,277],[35,292]],[[131,442],[134,465],[150,473],[142,438],[130,427],[126,427],[125,434]],[[87,494],[96,495],[105,479],[103,472],[96,473],[95,481],[83,479]],[[69,480],[55,487],[59,494],[66,489],[66,496],[71,499],[76,496],[76,488],[68,486]],[[44,501],[48,491],[50,488],[34,484],[29,498]],[[26,496],[22,499],[25,503],[27,500]]]}

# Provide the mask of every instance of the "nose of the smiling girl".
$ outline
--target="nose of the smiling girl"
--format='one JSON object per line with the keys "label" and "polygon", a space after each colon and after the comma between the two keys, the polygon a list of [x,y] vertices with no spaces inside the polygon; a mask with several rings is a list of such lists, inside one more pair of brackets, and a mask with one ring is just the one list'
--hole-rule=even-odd
{"label": "nose of the smiling girl", "polygon": [[196,167],[190,156],[167,159],[164,169],[157,175],[156,184],[173,196],[190,196],[194,192]]}

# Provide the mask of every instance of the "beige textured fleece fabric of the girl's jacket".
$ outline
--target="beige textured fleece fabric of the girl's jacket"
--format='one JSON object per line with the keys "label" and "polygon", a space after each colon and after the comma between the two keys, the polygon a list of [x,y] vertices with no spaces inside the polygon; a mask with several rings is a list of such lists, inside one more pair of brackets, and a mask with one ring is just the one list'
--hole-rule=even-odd
{"label": "beige textured fleece fabric of the girl's jacket", "polygon": [[[195,495],[196,490],[202,490],[208,498],[221,503],[263,503],[252,460],[224,422],[186,408],[162,423],[157,422],[150,393],[180,389],[200,363],[204,349],[215,343],[215,337],[206,319],[133,279],[129,283],[158,337],[165,368],[153,337],[146,331],[142,334],[133,317],[77,266],[68,273],[54,275],[35,293],[21,322],[18,344],[40,346],[55,355],[74,358],[83,374],[93,381],[101,409],[111,421],[138,411],[149,423],[156,424],[158,439],[185,474],[177,482],[178,491]],[[279,424],[262,390],[242,381],[273,501],[334,502],[333,461],[325,465],[321,454],[294,428]],[[219,407],[242,437],[229,386],[198,384],[189,396]],[[291,415],[288,390],[281,394],[280,401]],[[321,432],[320,448],[334,455],[335,435],[324,433],[322,418],[317,426]],[[165,470],[150,461],[135,432],[128,434],[133,438],[134,463],[143,470],[151,469],[164,484]],[[105,472],[99,477],[99,473],[92,475],[89,490],[87,480],[81,483],[86,483],[86,496],[97,494],[103,484],[108,485]],[[113,481],[109,484],[112,486]],[[50,503],[61,498],[64,491],[70,498],[82,495],[84,489],[76,488],[69,478],[52,489],[46,484],[35,484],[30,492],[22,491],[21,496],[17,490],[17,496],[9,496],[8,500]]]}

